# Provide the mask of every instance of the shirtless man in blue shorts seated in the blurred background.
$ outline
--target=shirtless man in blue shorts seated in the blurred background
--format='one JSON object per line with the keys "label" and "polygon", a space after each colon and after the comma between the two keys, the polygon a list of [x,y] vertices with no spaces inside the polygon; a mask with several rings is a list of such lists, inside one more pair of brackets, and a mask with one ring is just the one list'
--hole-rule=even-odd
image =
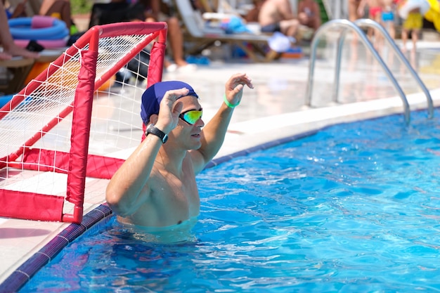
{"label": "shirtless man in blue shorts seated in the blurred background", "polygon": [[287,37],[297,37],[299,20],[293,15],[289,0],[264,1],[259,11],[258,22],[261,32],[282,32]]}

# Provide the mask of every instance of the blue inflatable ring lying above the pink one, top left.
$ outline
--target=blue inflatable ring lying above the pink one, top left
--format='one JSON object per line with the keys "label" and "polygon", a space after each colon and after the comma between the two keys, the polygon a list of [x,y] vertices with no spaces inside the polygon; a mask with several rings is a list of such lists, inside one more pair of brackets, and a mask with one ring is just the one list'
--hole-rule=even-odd
{"label": "blue inflatable ring lying above the pink one, top left", "polygon": [[13,18],[8,24],[13,39],[63,39],[69,35],[65,22],[50,16]]}

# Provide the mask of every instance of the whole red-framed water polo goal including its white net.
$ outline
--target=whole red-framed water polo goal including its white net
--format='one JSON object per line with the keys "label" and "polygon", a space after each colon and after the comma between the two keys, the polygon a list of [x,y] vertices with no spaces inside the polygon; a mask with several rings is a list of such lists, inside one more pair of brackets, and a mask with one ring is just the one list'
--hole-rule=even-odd
{"label": "whole red-framed water polo goal including its white net", "polygon": [[[119,152],[141,142],[141,91],[162,79],[166,37],[165,22],[92,27],[0,109],[0,216],[82,221],[88,186],[105,193]],[[146,83],[101,91],[133,60]]]}

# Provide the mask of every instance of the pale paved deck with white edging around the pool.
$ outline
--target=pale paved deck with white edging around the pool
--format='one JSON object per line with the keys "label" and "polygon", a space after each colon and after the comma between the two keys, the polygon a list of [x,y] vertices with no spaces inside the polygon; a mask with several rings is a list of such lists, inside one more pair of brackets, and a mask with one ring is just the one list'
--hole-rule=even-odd
{"label": "pale paved deck with white edging around the pool", "polygon": [[[236,72],[246,72],[254,89],[245,89],[228,134],[216,159],[246,152],[258,145],[315,131],[325,126],[401,113],[403,103],[387,76],[375,68],[368,54],[359,53],[354,66],[347,57],[342,63],[339,101],[332,101],[335,68],[332,48],[318,55],[310,107],[306,103],[309,59],[281,58],[273,63],[213,61],[195,72],[165,73],[163,80],[180,79],[201,96],[205,122],[222,103],[224,83]],[[370,64],[371,63],[371,64]],[[392,70],[402,78],[410,110],[426,109],[427,97],[401,65]],[[440,105],[440,41],[420,41],[415,68],[431,94],[434,107]],[[368,82],[366,82],[368,80]],[[319,82],[318,82],[319,81]],[[402,123],[404,123],[402,115]],[[104,202],[102,197],[86,200],[85,212]],[[70,223],[24,221],[0,218],[0,284],[27,259],[63,231]]]}

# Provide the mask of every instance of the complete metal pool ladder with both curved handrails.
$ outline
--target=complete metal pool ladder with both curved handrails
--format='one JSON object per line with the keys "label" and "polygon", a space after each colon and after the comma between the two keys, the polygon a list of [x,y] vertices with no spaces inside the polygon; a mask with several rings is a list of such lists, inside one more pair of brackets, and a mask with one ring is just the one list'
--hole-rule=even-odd
{"label": "complete metal pool ladder with both curved handrails", "polygon": [[393,48],[394,53],[396,53],[396,55],[401,60],[403,65],[405,65],[408,68],[409,72],[413,75],[415,81],[418,82],[419,86],[422,88],[423,92],[425,93],[425,96],[427,97],[428,117],[432,118],[434,116],[434,106],[432,104],[431,94],[429,93],[425,84],[423,84],[417,72],[415,72],[415,70],[410,65],[410,63],[408,63],[408,60],[406,60],[405,56],[403,56],[403,53],[401,53],[400,49],[396,46],[394,40],[392,39],[392,37],[389,36],[388,32],[384,29],[384,27],[382,27],[382,25],[375,22],[374,20],[370,20],[366,18],[356,20],[355,22],[351,22],[349,20],[344,20],[344,19],[330,20],[328,22],[325,22],[323,25],[321,25],[321,27],[316,31],[316,34],[311,42],[311,53],[310,53],[310,61],[309,61],[309,79],[307,82],[307,91],[306,91],[306,105],[311,106],[311,93],[313,87],[313,75],[314,75],[314,67],[316,60],[316,47],[318,45],[319,37],[321,37],[321,35],[324,34],[327,30],[330,30],[335,27],[344,27],[345,30],[341,32],[337,44],[335,82],[333,84],[333,95],[332,95],[333,101],[337,102],[337,96],[339,93],[339,75],[341,71],[342,45],[344,44],[345,35],[349,31],[349,29],[351,29],[354,30],[354,32],[356,32],[356,34],[361,39],[363,44],[368,48],[370,53],[372,53],[372,55],[375,57],[377,62],[382,66],[384,72],[387,74],[388,78],[391,80],[392,84],[396,88],[396,91],[399,93],[399,96],[401,97],[403,103],[405,122],[406,124],[409,124],[410,107],[408,104],[408,100],[406,99],[405,93],[403,93],[401,86],[396,81],[391,70],[389,70],[389,67],[387,67],[387,65],[384,63],[384,60],[382,60],[377,50],[373,47],[370,40],[368,40],[368,37],[366,37],[364,32],[360,29],[360,27],[373,27],[377,29],[382,34],[384,39],[388,41],[389,45]]}

